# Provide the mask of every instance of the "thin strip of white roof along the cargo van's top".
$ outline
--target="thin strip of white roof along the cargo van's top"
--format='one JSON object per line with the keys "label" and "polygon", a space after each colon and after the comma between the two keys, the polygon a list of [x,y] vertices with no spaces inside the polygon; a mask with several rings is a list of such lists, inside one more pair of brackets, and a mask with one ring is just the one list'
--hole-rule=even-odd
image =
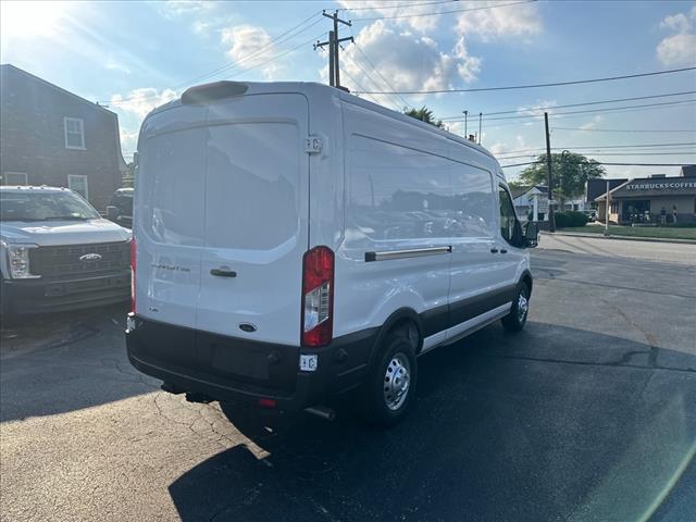
{"label": "thin strip of white roof along the cargo van's top", "polygon": [[[240,87],[246,87],[244,95],[261,95],[261,94],[279,94],[279,92],[301,92],[307,95],[308,98],[314,98],[312,95],[316,95],[321,92],[322,95],[326,95],[327,90],[331,90],[333,96],[337,96],[340,99],[353,103],[357,105],[364,107],[371,111],[378,112],[381,114],[387,115],[389,117],[394,117],[396,120],[408,123],[409,125],[420,126],[421,128],[427,129],[432,133],[439,134],[440,136],[450,139],[452,141],[457,141],[458,144],[464,145],[473,150],[476,150],[483,154],[486,154],[494,161],[496,161],[495,157],[484,147],[473,144],[461,136],[457,136],[456,134],[449,133],[447,130],[443,130],[440,128],[435,127],[428,123],[421,122],[415,120],[414,117],[407,116],[400,112],[393,111],[391,109],[387,109],[386,107],[380,105],[369,100],[364,100],[356,95],[351,95],[343,89],[337,89],[335,87],[330,87],[324,84],[318,84],[315,82],[229,82],[231,85],[236,85]],[[212,84],[208,84],[212,85]],[[200,87],[200,86],[196,86]],[[243,95],[243,96],[244,96]],[[177,98],[175,100],[170,101],[163,105],[160,105],[152,110],[148,116],[157,114],[159,112],[165,111],[167,109],[172,109],[174,107],[178,107],[182,104],[182,99]]]}

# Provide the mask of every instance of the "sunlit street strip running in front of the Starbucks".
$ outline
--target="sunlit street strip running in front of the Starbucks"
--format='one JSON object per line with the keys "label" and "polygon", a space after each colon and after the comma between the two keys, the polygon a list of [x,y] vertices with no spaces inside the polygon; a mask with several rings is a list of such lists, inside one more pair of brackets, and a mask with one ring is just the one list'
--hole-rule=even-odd
{"label": "sunlit street strip running in front of the Starbucks", "polygon": [[539,248],[696,265],[696,245],[542,234]]}

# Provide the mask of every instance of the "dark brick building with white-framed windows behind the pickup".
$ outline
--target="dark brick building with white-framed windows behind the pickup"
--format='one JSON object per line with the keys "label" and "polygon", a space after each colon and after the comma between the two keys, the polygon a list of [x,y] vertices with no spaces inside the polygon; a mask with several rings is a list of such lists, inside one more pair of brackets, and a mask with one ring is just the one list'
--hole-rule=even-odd
{"label": "dark brick building with white-framed windows behind the pickup", "polygon": [[0,184],[69,187],[103,211],[126,170],[115,113],[0,65]]}

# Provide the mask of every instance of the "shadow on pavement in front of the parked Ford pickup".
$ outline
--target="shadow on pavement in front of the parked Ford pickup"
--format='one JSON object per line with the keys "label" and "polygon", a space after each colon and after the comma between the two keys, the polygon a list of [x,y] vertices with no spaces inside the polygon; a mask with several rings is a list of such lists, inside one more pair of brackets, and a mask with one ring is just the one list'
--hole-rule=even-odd
{"label": "shadow on pavement in front of the parked Ford pickup", "polygon": [[[127,361],[126,304],[17,318],[1,331],[0,421],[50,415],[152,390]],[[158,385],[159,386],[159,385]]]}

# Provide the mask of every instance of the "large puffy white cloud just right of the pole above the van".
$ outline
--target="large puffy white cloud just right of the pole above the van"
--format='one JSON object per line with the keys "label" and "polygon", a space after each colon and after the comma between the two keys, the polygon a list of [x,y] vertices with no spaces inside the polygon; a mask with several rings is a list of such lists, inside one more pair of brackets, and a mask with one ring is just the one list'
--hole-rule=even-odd
{"label": "large puffy white cloud just right of the pole above the van", "polygon": [[[346,48],[340,62],[345,71],[341,84],[351,90],[363,90],[360,86],[365,90],[447,89],[460,80],[473,82],[481,71],[481,59],[469,55],[463,38],[450,52],[444,52],[432,38],[397,33],[377,21],[363,28],[356,42],[357,46]],[[322,75],[326,77],[325,70]],[[421,97],[409,98],[420,100]]]}

